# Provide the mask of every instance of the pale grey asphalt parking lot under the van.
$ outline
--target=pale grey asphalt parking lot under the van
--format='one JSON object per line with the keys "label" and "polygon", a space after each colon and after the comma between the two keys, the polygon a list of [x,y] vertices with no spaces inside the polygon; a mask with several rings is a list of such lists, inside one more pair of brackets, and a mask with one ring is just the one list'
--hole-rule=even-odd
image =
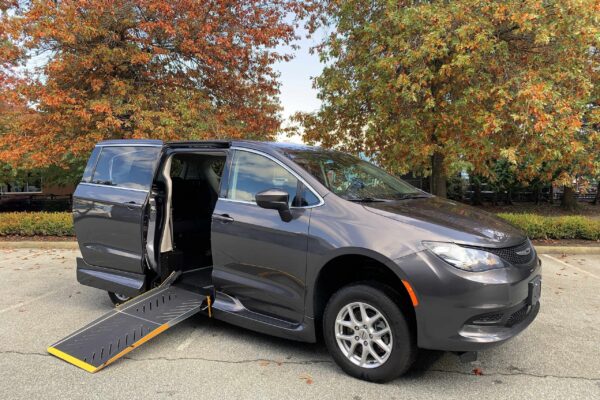
{"label": "pale grey asphalt parking lot under the van", "polygon": [[385,385],[344,375],[322,344],[196,317],[89,374],[48,345],[110,309],[75,279],[73,250],[0,249],[0,398],[600,398],[600,255],[542,255],[542,308],[505,345],[462,364],[422,352]]}

